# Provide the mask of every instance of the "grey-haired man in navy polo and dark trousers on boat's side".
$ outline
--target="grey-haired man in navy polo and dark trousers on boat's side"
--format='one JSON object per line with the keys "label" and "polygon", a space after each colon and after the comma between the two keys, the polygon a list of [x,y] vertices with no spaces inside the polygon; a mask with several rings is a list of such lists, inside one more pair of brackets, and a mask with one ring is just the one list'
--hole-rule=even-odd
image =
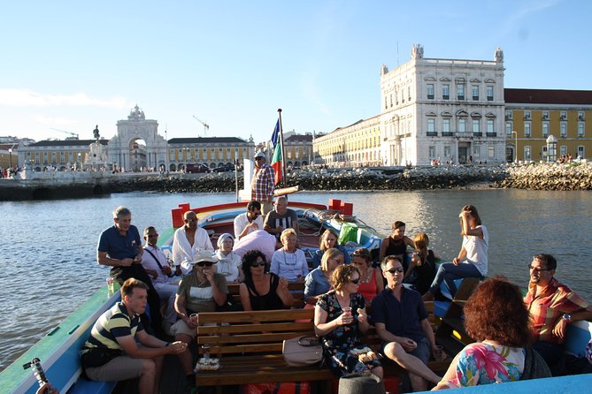
{"label": "grey-haired man in navy polo and dark trousers on boat's side", "polygon": [[158,337],[162,332],[162,316],[160,315],[160,298],[152,286],[150,277],[142,267],[142,239],[135,225],[132,225],[132,213],[125,207],[113,211],[115,225],[101,233],[96,246],[96,261],[111,267],[111,277],[119,285],[130,277],[148,285],[148,305],[150,319],[144,315],[144,322],[151,322],[152,330]]}

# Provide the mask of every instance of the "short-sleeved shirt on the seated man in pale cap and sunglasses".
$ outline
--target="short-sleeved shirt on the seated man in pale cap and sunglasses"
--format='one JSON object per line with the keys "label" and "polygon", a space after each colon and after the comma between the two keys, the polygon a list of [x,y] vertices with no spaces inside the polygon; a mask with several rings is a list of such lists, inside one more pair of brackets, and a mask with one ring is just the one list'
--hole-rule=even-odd
{"label": "short-sleeved shirt on the seated man in pale cap and sunglasses", "polygon": [[[223,275],[215,273],[214,282],[220,292],[228,293],[227,280]],[[185,297],[185,307],[193,313],[216,311],[210,282],[205,280],[201,283],[193,272],[181,278],[177,294]]]}

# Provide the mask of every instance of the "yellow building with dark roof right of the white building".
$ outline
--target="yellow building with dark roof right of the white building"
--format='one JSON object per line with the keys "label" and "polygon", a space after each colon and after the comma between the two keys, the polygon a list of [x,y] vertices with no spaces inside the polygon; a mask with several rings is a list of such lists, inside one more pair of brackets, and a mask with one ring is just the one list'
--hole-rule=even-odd
{"label": "yellow building with dark roof right of the white building", "polygon": [[[508,162],[592,153],[592,126],[586,122],[592,120],[592,91],[506,88],[504,101]],[[557,152],[547,141],[550,136],[557,139]]]}

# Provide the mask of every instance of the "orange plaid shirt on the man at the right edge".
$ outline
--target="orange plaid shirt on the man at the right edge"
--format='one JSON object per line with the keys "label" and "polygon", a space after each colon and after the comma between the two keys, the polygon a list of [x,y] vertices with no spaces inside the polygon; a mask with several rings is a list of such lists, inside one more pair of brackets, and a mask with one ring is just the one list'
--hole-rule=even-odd
{"label": "orange plaid shirt on the man at the right edge", "polygon": [[527,296],[524,298],[532,322],[533,341],[564,343],[565,337],[553,335],[553,327],[563,314],[585,309],[590,304],[555,278],[536,297],[535,290],[536,284],[529,284]]}

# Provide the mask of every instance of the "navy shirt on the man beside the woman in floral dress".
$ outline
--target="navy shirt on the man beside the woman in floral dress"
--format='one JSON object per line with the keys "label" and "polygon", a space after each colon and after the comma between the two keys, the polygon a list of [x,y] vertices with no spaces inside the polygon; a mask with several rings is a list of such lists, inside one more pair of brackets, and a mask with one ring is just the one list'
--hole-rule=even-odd
{"label": "navy shirt on the man beside the woman in floral dress", "polygon": [[421,294],[414,290],[403,288],[399,301],[385,288],[372,301],[372,318],[374,323],[384,323],[387,331],[397,337],[409,337],[415,342],[426,337],[421,327],[421,321],[427,319],[426,307]]}

